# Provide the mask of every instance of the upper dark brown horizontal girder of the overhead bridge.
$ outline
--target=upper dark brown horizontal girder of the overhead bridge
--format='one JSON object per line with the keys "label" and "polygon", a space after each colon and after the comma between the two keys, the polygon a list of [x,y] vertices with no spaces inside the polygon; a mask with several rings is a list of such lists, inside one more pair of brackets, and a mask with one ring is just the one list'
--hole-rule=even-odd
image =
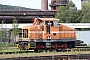
{"label": "upper dark brown horizontal girder of the overhead bridge", "polygon": [[0,11],[0,16],[55,16],[56,10]]}

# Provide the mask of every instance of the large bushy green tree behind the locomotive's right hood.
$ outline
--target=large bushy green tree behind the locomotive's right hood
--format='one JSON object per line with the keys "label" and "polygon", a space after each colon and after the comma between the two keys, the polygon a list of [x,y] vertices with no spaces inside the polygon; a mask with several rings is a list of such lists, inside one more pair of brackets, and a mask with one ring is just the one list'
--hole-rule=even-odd
{"label": "large bushy green tree behind the locomotive's right hood", "polygon": [[61,23],[80,23],[82,14],[77,11],[75,4],[70,1],[66,6],[60,6],[56,15]]}

